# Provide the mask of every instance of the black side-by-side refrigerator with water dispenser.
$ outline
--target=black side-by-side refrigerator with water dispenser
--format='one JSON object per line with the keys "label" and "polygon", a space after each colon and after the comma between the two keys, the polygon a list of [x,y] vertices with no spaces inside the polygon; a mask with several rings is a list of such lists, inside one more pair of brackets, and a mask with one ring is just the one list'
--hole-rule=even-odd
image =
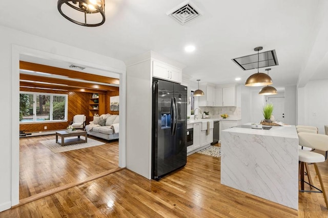
{"label": "black side-by-side refrigerator with water dispenser", "polygon": [[187,163],[187,87],[153,78],[152,179]]}

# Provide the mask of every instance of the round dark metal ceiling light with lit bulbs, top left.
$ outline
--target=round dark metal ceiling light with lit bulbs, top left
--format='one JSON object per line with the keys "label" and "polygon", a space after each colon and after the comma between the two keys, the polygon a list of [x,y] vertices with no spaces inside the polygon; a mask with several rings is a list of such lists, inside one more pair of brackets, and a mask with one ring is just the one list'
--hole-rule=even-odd
{"label": "round dark metal ceiling light with lit bulbs, top left", "polygon": [[[58,0],[57,8],[61,15],[77,25],[98,27],[105,22],[105,0]],[[76,11],[72,9],[84,13],[84,17],[76,16]],[[66,15],[68,12],[73,18]]]}

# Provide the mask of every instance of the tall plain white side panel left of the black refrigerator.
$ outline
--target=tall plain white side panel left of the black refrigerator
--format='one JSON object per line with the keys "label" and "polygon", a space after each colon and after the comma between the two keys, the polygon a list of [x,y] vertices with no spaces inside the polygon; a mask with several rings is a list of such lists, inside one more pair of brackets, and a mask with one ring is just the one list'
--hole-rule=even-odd
{"label": "tall plain white side panel left of the black refrigerator", "polygon": [[127,66],[127,167],[151,178],[151,60]]}

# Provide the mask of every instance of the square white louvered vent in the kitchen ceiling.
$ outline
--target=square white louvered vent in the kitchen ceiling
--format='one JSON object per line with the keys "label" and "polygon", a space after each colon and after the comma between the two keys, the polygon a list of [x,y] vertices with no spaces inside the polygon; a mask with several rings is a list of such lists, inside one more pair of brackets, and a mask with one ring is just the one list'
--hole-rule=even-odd
{"label": "square white louvered vent in the kitchen ceiling", "polygon": [[175,19],[180,25],[199,17],[201,14],[191,1],[185,1],[166,13]]}

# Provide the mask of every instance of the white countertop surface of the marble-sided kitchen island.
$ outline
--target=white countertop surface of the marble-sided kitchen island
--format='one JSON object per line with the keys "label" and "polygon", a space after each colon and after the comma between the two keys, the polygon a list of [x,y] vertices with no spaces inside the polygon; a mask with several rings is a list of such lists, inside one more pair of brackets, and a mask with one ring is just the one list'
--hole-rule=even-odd
{"label": "white countertop surface of the marble-sided kitchen island", "polygon": [[[251,126],[251,123],[243,124],[243,125]],[[233,127],[222,131],[231,132],[231,133],[264,135],[264,136],[278,136],[278,137],[285,137],[285,138],[298,138],[296,127],[290,125],[280,126],[280,127],[273,126],[270,130]]]}

